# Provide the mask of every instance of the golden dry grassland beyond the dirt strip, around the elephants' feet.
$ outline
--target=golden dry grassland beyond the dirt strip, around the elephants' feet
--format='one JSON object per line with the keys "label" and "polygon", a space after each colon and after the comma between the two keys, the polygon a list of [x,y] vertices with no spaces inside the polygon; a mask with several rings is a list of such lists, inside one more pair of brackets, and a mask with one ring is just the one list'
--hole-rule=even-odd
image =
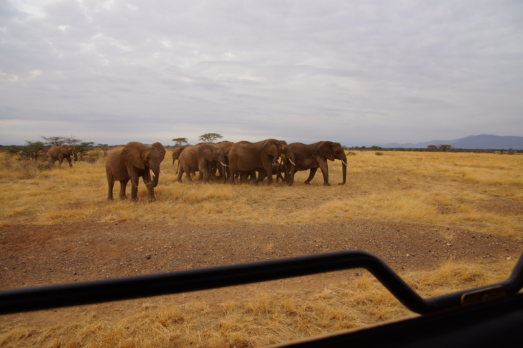
{"label": "golden dry grassland beyond the dirt strip, around the elephants' feet", "polygon": [[[523,156],[492,153],[357,151],[348,157],[347,184],[341,164],[329,162],[331,187],[320,171],[312,185],[307,172],[284,184],[223,185],[175,182],[167,152],[156,202],[147,202],[143,182],[139,202],[106,202],[103,160],[74,163],[73,169],[42,171],[35,177],[3,158],[0,169],[0,224],[53,224],[71,221],[249,221],[317,223],[332,219],[401,220],[463,226],[480,232],[523,236],[521,213],[506,210],[523,201]],[[115,184],[118,197],[119,183]],[[130,193],[130,184],[128,186]],[[299,208],[290,202],[303,203]],[[500,206],[501,204],[501,206]],[[499,207],[499,209],[490,209]]]}

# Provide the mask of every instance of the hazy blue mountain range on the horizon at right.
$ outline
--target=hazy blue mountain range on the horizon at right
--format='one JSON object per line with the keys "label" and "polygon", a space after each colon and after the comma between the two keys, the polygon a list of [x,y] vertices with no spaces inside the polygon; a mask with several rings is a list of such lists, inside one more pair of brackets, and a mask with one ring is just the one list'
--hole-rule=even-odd
{"label": "hazy blue mountain range on the horizon at right", "polygon": [[426,142],[411,142],[406,144],[389,143],[385,148],[425,148],[428,145],[452,145],[453,149],[514,149],[523,150],[523,137],[498,136],[498,135],[469,135],[454,140],[432,140]]}

